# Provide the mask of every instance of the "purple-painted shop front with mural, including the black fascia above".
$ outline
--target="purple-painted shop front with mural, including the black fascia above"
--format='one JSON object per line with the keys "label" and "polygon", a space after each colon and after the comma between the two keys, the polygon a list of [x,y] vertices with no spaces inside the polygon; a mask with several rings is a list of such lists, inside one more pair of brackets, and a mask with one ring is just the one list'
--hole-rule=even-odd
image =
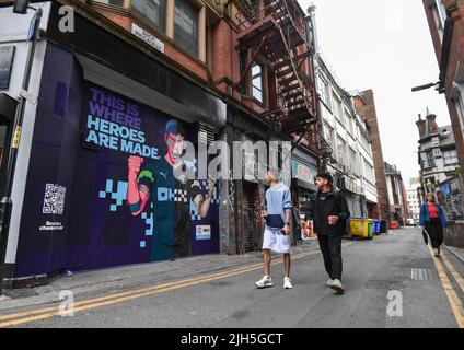
{"label": "purple-painted shop front with mural, including the black fascia above", "polygon": [[[223,126],[225,105],[79,15],[79,35],[60,33],[58,11],[53,2],[12,277],[218,253],[220,188],[178,150]],[[195,178],[174,176],[179,165]]]}

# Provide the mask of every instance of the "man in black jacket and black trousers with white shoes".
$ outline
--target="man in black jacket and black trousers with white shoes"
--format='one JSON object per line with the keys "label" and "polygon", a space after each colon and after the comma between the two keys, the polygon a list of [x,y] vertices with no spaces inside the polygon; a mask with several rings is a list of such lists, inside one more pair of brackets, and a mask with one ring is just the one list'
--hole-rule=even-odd
{"label": "man in black jacket and black trousers with white shoes", "polygon": [[326,285],[341,294],[345,293],[341,284],[341,240],[350,212],[344,195],[335,190],[332,183],[330,174],[317,174],[318,191],[311,197],[305,221],[313,220],[314,233],[317,234],[325,270],[329,276]]}

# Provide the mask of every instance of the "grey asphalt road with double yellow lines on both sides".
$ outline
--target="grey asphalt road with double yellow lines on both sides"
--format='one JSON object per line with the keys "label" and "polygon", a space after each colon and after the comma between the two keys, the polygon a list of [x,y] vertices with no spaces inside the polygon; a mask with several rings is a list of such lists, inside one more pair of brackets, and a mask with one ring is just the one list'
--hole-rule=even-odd
{"label": "grey asphalt road with double yellow lines on both sides", "polygon": [[259,261],[119,293],[89,293],[76,300],[73,316],[55,305],[0,313],[0,327],[464,327],[464,264],[443,249],[431,255],[418,229],[404,229],[344,247],[344,283],[325,287],[321,254],[300,254],[292,265],[294,289],[283,290],[283,267],[275,260],[276,285],[257,290]]}

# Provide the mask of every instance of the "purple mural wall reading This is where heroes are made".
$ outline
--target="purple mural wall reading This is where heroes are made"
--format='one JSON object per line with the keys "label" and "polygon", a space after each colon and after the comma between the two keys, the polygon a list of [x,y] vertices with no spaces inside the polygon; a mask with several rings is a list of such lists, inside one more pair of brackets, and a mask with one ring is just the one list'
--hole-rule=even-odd
{"label": "purple mural wall reading This is where heroes are made", "polygon": [[217,186],[174,176],[195,128],[82,77],[48,45],[15,276],[218,253]]}

